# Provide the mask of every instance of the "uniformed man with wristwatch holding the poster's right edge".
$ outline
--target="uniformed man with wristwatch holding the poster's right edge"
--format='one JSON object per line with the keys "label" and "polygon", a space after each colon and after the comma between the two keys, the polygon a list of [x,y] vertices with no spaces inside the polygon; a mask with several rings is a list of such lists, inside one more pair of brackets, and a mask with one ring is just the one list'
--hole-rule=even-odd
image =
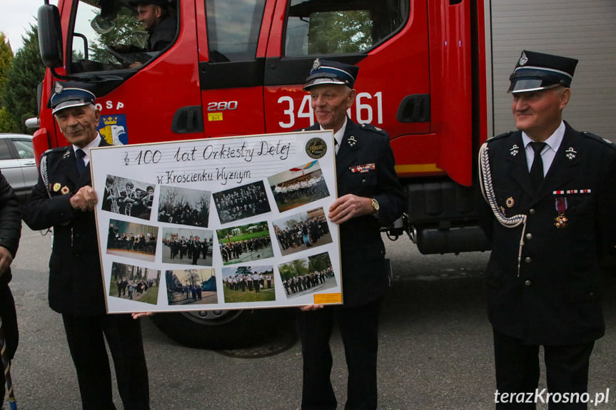
{"label": "uniformed man with wristwatch holding the poster's right edge", "polygon": [[[377,405],[378,315],[389,285],[380,227],[402,215],[405,199],[388,134],[372,125],[353,123],[346,116],[355,101],[358,70],[317,59],[304,87],[310,92],[317,119],[307,130],[333,130],[336,141],[339,198],[328,217],[340,225],[344,304],[301,308],[303,410],[336,409],[329,347],[334,317],[340,325],[348,367],[345,409],[376,409]],[[360,168],[367,172],[357,172]]]}

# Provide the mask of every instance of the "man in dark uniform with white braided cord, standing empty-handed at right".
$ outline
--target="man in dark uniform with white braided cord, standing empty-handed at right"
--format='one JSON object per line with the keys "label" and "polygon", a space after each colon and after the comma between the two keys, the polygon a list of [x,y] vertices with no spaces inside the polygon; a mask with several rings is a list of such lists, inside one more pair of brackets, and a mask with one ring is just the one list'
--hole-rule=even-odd
{"label": "man in dark uniform with white braided cord, standing empty-handed at right", "polygon": [[[535,409],[498,394],[535,394],[540,345],[547,391],[584,394],[590,354],[605,330],[599,264],[616,244],[616,148],[562,121],[576,65],[523,51],[509,88],[518,130],[480,152],[497,409]],[[587,408],[573,401],[553,400],[549,409]]]}

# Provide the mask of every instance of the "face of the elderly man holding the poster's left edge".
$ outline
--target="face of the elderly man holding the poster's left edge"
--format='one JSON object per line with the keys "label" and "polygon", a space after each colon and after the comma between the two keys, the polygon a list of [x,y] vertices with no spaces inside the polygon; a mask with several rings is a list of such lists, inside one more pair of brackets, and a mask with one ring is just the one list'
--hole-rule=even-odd
{"label": "face of the elderly man holding the poster's left edge", "polygon": [[96,138],[101,112],[94,106],[64,108],[56,114],[60,130],[69,143],[84,148]]}

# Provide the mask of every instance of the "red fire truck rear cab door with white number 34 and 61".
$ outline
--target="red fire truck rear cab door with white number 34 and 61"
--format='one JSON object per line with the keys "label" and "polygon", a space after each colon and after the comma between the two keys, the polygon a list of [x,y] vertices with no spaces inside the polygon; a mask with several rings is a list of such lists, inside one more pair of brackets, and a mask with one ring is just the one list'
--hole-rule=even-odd
{"label": "red fire truck rear cab door with white number 34 and 61", "polygon": [[[430,130],[426,2],[278,0],[265,70],[266,128],[314,123],[303,83],[315,58],[359,66],[350,118],[385,128],[391,138]],[[405,121],[396,119],[408,111]]]}

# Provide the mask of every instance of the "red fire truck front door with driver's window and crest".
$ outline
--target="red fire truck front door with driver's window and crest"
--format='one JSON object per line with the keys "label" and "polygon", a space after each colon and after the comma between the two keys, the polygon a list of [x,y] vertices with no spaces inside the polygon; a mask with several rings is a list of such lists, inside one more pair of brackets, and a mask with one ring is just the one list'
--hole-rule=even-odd
{"label": "red fire truck front door with driver's window and crest", "polygon": [[[192,1],[171,0],[160,8],[151,29],[126,1],[59,2],[69,53],[57,77],[66,80],[64,86],[94,92],[102,114],[100,132],[109,143],[203,137],[203,126],[186,115],[195,106],[201,115],[195,7]],[[54,81],[46,85],[44,110]],[[51,118],[51,113],[41,117]],[[55,135],[52,146],[66,145],[58,130]]]}

